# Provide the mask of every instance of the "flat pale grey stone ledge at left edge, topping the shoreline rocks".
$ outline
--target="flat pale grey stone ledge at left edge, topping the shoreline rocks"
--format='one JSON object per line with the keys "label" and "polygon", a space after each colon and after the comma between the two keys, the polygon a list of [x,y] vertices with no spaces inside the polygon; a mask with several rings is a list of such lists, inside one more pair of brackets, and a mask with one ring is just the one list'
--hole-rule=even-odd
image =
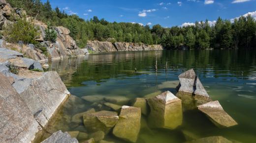
{"label": "flat pale grey stone ledge at left edge, topping the shoreline rocks", "polygon": [[7,48],[0,48],[0,58],[2,59],[12,59],[16,57],[22,57],[23,54],[15,50],[10,50]]}

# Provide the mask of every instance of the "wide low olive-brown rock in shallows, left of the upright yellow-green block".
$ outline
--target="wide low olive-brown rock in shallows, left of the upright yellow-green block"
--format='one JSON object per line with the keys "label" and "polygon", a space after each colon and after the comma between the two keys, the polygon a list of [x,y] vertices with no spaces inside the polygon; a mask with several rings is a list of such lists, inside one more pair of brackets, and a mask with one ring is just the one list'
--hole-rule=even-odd
{"label": "wide low olive-brown rock in shallows, left of the upright yellow-green block", "polygon": [[111,111],[86,113],[83,117],[84,125],[89,132],[96,132],[101,130],[104,133],[108,133],[119,119],[117,113]]}

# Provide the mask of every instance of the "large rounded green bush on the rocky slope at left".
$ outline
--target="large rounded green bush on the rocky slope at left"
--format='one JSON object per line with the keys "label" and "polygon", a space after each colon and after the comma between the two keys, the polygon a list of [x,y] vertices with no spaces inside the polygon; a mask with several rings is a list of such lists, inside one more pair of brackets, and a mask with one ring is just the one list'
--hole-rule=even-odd
{"label": "large rounded green bush on the rocky slope at left", "polygon": [[3,28],[2,34],[10,43],[23,41],[25,44],[35,44],[35,39],[39,36],[38,28],[26,19],[19,19],[14,24],[7,25]]}

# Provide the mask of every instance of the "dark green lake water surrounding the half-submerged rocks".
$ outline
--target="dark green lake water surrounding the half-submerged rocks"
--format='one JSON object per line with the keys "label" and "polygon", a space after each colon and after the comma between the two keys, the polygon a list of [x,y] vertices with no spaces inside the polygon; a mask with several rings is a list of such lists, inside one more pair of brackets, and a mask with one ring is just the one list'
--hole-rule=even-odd
{"label": "dark green lake water surrounding the half-submerged rocks", "polygon": [[[156,55],[157,73],[154,70]],[[164,70],[166,60],[167,72]],[[134,72],[134,68],[138,72]],[[118,95],[133,99],[158,91],[169,90],[176,94],[174,89],[176,85],[172,81],[177,83],[178,75],[192,68],[211,98],[219,100],[224,110],[238,122],[238,125],[220,129],[199,111],[184,110],[182,125],[178,128],[149,129],[145,127],[147,117],[142,116],[143,125],[137,143],[186,142],[184,132],[197,138],[223,136],[228,140],[255,143],[256,51],[109,52],[53,61],[50,70],[58,71],[69,92],[77,97]],[[82,122],[76,127],[70,123],[70,118],[90,108],[95,108],[96,111],[110,110],[104,105],[101,108],[98,106],[103,102],[90,103],[81,98],[69,99],[48,128],[49,132],[57,130],[87,132]],[[104,140],[126,143],[111,133],[106,135]]]}

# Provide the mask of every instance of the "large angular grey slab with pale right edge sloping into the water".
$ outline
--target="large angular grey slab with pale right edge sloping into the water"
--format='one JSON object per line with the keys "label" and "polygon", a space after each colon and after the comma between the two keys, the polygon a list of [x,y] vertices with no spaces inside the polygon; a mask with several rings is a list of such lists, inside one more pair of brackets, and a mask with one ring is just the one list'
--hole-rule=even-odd
{"label": "large angular grey slab with pale right edge sloping into the water", "polygon": [[56,71],[43,72],[32,79],[29,86],[16,86],[20,96],[31,110],[34,118],[45,126],[59,105],[70,95]]}

